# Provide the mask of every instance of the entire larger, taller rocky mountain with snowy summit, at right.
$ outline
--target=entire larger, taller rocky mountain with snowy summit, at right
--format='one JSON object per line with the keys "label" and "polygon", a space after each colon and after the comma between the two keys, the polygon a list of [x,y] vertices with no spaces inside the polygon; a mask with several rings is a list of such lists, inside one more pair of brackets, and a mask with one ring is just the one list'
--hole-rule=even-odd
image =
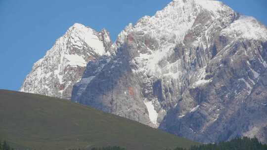
{"label": "entire larger, taller rocky mountain with snowy summit, at right", "polygon": [[174,0],[89,62],[72,100],[201,142],[267,142],[267,28],[216,0]]}

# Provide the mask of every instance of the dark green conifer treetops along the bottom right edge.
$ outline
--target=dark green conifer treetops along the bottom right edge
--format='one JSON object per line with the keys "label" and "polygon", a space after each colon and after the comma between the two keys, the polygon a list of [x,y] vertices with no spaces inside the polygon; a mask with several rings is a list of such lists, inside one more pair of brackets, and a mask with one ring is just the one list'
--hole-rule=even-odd
{"label": "dark green conifer treetops along the bottom right edge", "polygon": [[[186,150],[176,148],[174,150]],[[193,146],[189,150],[267,150],[267,145],[261,144],[257,138],[235,138],[229,142]]]}

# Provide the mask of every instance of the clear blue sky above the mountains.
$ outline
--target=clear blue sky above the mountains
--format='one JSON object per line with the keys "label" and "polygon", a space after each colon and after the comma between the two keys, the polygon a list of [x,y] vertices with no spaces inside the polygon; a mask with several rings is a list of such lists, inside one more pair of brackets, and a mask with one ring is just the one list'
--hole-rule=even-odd
{"label": "clear blue sky above the mountains", "polygon": [[[171,0],[0,0],[0,89],[18,90],[32,65],[74,23],[113,39],[130,22],[153,15]],[[267,25],[267,0],[222,0]]]}

